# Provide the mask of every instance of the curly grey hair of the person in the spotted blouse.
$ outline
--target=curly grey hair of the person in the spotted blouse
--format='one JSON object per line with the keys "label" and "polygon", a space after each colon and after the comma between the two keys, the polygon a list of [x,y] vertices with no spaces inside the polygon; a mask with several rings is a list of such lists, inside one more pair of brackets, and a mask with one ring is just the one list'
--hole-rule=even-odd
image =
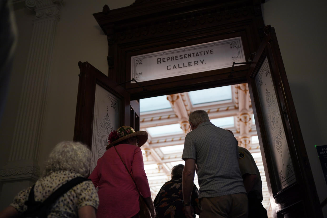
{"label": "curly grey hair of the person in the spotted blouse", "polygon": [[79,142],[60,142],[49,155],[45,163],[43,176],[59,170],[74,171],[83,177],[90,174],[91,151]]}

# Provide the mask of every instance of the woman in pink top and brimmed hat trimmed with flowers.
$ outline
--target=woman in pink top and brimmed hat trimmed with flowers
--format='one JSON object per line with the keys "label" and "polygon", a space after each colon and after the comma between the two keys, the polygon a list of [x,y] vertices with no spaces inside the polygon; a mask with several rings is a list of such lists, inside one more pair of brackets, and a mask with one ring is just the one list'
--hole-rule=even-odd
{"label": "woman in pink top and brimmed hat trimmed with flowers", "polygon": [[149,207],[151,217],[156,216],[140,149],[147,137],[146,131],[135,132],[130,126],[122,126],[109,134],[107,151],[89,176],[99,188],[96,217],[140,217],[137,189]]}

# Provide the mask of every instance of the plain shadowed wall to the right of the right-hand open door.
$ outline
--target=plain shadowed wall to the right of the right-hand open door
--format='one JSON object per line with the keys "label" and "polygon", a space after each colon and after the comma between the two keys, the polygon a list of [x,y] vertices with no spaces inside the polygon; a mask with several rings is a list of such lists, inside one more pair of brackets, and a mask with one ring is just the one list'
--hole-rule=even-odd
{"label": "plain shadowed wall to the right of the right-hand open door", "polygon": [[[327,1],[266,0],[265,25],[275,27],[320,202],[327,186],[314,145],[327,144]],[[327,207],[323,208],[327,217]]]}

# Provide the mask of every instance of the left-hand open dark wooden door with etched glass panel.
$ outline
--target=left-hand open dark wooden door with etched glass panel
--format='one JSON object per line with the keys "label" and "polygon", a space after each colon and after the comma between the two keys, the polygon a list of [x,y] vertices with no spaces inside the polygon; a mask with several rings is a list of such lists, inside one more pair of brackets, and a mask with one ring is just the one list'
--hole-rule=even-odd
{"label": "left-hand open dark wooden door with etched glass panel", "polygon": [[109,132],[130,126],[130,95],[88,62],[78,62],[78,66],[74,141],[91,148],[92,171],[106,151]]}

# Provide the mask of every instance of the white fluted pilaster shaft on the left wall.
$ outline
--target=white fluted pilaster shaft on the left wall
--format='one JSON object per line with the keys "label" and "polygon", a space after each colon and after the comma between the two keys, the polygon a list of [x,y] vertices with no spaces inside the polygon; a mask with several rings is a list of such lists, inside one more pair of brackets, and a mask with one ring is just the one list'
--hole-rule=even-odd
{"label": "white fluted pilaster shaft on the left wall", "polygon": [[[38,160],[53,42],[60,14],[60,5],[54,4],[52,0],[26,0],[26,5],[35,6],[37,19],[33,20],[33,37],[27,56],[9,161]],[[21,143],[22,136],[24,144]],[[25,166],[31,165],[22,164],[17,167]]]}

